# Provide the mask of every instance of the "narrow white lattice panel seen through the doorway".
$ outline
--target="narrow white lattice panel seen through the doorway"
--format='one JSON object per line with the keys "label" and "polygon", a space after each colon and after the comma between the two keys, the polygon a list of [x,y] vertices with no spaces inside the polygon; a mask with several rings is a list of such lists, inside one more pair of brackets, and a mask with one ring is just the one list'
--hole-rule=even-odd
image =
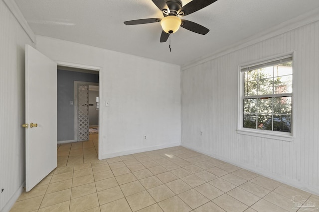
{"label": "narrow white lattice panel seen through the doorway", "polygon": [[89,140],[89,86],[78,85],[78,141]]}

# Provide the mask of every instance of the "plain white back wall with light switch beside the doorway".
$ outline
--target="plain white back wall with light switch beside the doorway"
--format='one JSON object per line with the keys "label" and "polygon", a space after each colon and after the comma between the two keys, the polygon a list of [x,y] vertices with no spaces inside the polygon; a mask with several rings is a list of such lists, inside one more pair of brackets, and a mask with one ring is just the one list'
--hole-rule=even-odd
{"label": "plain white back wall with light switch beside the doorway", "polygon": [[101,68],[100,159],[180,144],[179,66],[43,36],[36,49],[58,62]]}

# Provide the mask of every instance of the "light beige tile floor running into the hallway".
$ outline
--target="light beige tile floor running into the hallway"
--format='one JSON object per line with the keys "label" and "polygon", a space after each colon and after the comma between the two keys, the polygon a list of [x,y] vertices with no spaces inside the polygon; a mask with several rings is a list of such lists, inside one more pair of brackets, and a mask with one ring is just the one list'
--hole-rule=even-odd
{"label": "light beige tile floor running into the hallway", "polygon": [[302,212],[311,208],[296,203],[319,205],[319,196],[182,146],[98,160],[97,144],[90,135],[58,145],[58,167],[11,212]]}

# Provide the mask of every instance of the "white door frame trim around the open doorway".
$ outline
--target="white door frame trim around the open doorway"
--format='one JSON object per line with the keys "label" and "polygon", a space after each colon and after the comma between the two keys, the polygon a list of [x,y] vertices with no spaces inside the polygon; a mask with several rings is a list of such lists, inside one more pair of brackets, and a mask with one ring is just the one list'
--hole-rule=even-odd
{"label": "white door frame trim around the open doorway", "polygon": [[[90,65],[84,65],[84,64],[76,64],[76,63],[69,63],[69,62],[65,62],[65,61],[55,61],[57,63],[57,66],[64,66],[64,67],[70,67],[70,68],[75,68],[75,69],[85,69],[85,70],[91,70],[91,71],[98,71],[99,72],[99,98],[100,98],[100,102],[101,102],[101,93],[102,93],[102,67],[97,67],[97,66],[90,66]],[[74,104],[75,105],[75,104]],[[100,108],[99,108],[99,129],[102,129],[103,126],[103,122],[102,122],[102,118],[101,118],[101,103],[100,103]],[[102,109],[103,110],[103,109]],[[74,123],[75,125],[75,123]],[[100,131],[101,132],[101,131]],[[100,159],[100,155],[101,154],[101,133],[99,132],[99,137],[98,137],[98,146],[99,146],[99,152],[98,152],[98,158]],[[75,139],[75,138],[74,138]]]}

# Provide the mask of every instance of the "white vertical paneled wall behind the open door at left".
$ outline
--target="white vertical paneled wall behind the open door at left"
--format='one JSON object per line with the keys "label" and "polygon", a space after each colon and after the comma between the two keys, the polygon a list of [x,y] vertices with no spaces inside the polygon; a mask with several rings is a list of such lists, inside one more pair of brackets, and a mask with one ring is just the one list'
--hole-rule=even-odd
{"label": "white vertical paneled wall behind the open door at left", "polygon": [[31,40],[0,1],[0,211],[25,181],[24,49]]}

